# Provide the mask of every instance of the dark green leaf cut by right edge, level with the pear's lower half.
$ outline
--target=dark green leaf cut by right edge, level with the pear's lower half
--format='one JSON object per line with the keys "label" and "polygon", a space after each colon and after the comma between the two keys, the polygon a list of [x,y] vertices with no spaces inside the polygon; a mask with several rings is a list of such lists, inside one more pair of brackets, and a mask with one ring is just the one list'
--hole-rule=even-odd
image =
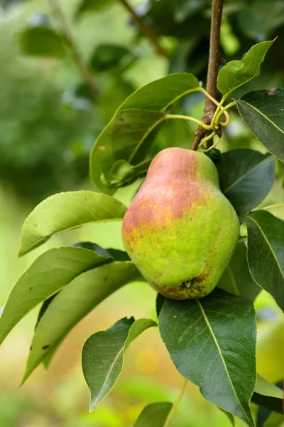
{"label": "dark green leaf cut by right edge, level with the pear's lower half", "polygon": [[253,211],[244,222],[252,278],[284,311],[284,221],[266,211]]}

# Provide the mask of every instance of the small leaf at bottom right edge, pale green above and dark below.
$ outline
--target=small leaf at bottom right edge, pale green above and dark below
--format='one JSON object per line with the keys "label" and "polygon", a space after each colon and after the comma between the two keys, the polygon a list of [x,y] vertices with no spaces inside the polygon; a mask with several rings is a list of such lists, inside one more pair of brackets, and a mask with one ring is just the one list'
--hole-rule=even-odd
{"label": "small leaf at bottom right edge, pale green above and dark below", "polygon": [[263,406],[271,411],[283,413],[283,390],[271,384],[259,374],[256,376],[256,388],[251,401],[253,404]]}

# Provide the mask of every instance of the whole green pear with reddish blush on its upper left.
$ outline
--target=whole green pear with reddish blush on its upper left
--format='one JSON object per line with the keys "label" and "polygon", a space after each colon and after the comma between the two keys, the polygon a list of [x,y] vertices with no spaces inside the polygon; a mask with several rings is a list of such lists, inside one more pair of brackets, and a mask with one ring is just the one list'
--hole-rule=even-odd
{"label": "whole green pear with reddish blush on its upper left", "polygon": [[205,154],[159,152],[124,216],[122,240],[133,263],[165,297],[187,300],[217,285],[239,238],[239,218]]}

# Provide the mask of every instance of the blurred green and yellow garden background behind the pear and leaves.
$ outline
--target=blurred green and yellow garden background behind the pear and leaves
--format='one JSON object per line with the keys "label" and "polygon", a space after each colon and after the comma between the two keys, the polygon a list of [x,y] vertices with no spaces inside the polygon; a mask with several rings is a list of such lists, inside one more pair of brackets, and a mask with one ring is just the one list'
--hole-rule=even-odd
{"label": "blurred green and yellow garden background behind the pear and leaves", "polygon": [[[17,258],[21,226],[35,204],[58,191],[92,189],[88,179],[89,150],[125,97],[169,72],[187,70],[197,73],[200,79],[206,75],[210,2],[180,1],[180,6],[174,8],[175,14],[167,9],[169,4],[173,6],[171,1],[161,0],[162,6],[157,6],[158,1],[150,1],[152,9],[146,8],[146,2],[131,2],[140,7],[138,10],[146,14],[148,22],[161,36],[160,43],[168,49],[170,60],[158,56],[151,43],[133,26],[119,1],[109,2],[105,9],[77,16],[76,11],[83,3],[60,2],[82,57],[92,63],[89,66],[94,70],[94,82],[99,88],[95,102],[64,47],[64,53],[59,51],[56,57],[45,53],[45,41],[37,39],[36,34],[27,41],[27,28],[45,26],[46,22],[48,26],[54,24],[48,1],[1,2],[0,306],[6,302],[19,275],[47,248],[93,241],[104,247],[123,249],[121,223],[102,223],[55,236],[43,248]],[[240,58],[253,43],[278,34],[276,49],[283,60],[284,19],[278,18],[275,23],[275,16],[280,16],[282,10],[279,4],[283,2],[272,2],[278,4],[278,9],[271,6],[269,17],[266,2],[261,0],[225,3],[222,51],[226,58]],[[262,15],[260,12],[253,15],[256,3],[261,5],[262,9],[258,10]],[[250,24],[249,29],[244,28],[245,19],[252,15],[261,24],[266,16],[266,26],[250,21],[255,27]],[[121,65],[114,60],[114,65],[106,66],[102,43],[123,46],[129,62]],[[33,52],[31,45],[35,45]],[[271,55],[266,66],[263,65],[261,78],[246,91],[283,85],[281,55],[277,60],[275,53]],[[202,108],[200,96],[189,97],[178,106],[196,117],[202,117]],[[251,147],[265,152],[239,117],[234,113],[232,116],[220,149]],[[155,139],[153,152],[168,146],[188,147],[193,130],[183,121],[166,124]],[[263,206],[284,202],[283,175],[284,167],[277,162],[275,184]],[[128,203],[138,184],[119,189],[115,196]],[[275,209],[273,214],[284,218],[281,209]],[[266,292],[257,297],[256,310],[258,372],[270,381],[280,381],[284,378],[283,317]],[[114,390],[93,413],[88,412],[89,393],[80,365],[82,345],[90,334],[106,329],[126,315],[155,318],[155,291],[145,283],[128,285],[99,305],[72,330],[50,369],[38,368],[31,379],[18,388],[37,313],[38,309],[33,310],[21,321],[0,347],[0,427],[127,427],[132,426],[146,404],[173,401],[178,395],[182,379],[158,331],[148,330],[126,353],[124,370]],[[203,399],[196,386],[188,384],[172,426],[208,425],[230,424],[224,413]],[[244,423],[236,420],[236,426]]]}

